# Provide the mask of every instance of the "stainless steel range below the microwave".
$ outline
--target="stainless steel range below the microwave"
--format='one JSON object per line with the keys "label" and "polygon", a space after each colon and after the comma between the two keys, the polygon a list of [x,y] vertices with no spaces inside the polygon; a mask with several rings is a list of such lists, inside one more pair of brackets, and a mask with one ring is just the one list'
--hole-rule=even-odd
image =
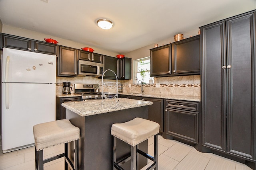
{"label": "stainless steel range below the microwave", "polygon": [[82,101],[90,99],[101,99],[102,94],[99,92],[99,88],[99,84],[74,84],[75,93],[82,95]]}

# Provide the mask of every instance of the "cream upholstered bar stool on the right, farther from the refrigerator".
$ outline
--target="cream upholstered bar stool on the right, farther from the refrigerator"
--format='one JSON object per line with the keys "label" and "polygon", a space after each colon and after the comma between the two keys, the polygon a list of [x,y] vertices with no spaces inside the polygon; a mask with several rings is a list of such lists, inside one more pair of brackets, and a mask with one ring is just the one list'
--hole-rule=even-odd
{"label": "cream upholstered bar stool on the right, farther from the refrigerator", "polygon": [[[158,170],[158,133],[160,125],[154,121],[136,117],[124,123],[115,123],[111,127],[111,135],[114,136],[113,169],[124,170],[120,165],[131,160],[131,170],[138,170],[138,154],[150,159],[153,163],[147,170]],[[154,136],[154,157],[138,149],[138,144]],[[131,153],[126,158],[116,162],[116,138],[131,145]]]}

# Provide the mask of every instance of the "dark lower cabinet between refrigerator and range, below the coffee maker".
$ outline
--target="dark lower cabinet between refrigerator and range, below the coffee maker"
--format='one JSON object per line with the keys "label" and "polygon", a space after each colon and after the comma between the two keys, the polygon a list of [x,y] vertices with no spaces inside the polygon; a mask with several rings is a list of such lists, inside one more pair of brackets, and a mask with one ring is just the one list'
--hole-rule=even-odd
{"label": "dark lower cabinet between refrigerator and range, below the coffee maker", "polygon": [[64,102],[79,102],[81,97],[58,98],[56,97],[56,120],[66,119],[66,108],[61,106]]}

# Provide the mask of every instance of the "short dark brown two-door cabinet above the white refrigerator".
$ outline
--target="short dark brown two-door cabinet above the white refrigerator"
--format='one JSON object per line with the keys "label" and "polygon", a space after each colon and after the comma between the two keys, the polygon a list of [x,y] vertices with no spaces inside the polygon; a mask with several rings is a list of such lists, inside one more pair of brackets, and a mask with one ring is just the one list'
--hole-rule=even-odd
{"label": "short dark brown two-door cabinet above the white refrigerator", "polygon": [[18,37],[14,35],[2,34],[2,47],[57,55],[58,45],[36,41],[33,39]]}

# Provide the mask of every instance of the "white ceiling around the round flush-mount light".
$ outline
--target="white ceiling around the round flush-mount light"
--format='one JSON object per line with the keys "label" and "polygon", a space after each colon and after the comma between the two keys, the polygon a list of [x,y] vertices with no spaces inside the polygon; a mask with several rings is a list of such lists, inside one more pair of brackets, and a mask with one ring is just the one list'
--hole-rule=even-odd
{"label": "white ceiling around the round flush-mount light", "polygon": [[[11,25],[125,54],[256,8],[256,0],[0,0]],[[97,26],[112,20],[112,29]],[[173,41],[172,41],[173,42]]]}

